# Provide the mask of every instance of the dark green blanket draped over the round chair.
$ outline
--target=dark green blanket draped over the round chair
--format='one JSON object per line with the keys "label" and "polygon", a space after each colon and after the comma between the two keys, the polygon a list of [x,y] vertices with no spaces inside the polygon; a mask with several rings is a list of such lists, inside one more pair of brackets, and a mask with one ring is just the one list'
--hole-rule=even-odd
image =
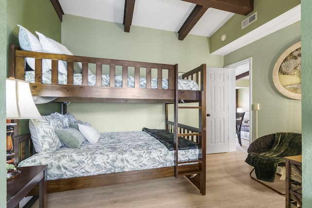
{"label": "dark green blanket draped over the round chair", "polygon": [[273,146],[269,151],[250,152],[245,160],[251,166],[257,179],[274,182],[277,166],[285,163],[284,157],[301,154],[301,134],[275,133]]}

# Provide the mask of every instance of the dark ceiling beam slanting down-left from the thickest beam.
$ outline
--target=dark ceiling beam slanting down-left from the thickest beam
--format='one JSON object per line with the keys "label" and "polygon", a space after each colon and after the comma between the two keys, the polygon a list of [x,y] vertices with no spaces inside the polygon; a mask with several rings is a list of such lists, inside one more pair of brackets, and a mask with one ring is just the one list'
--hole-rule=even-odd
{"label": "dark ceiling beam slanting down-left from the thickest beam", "polygon": [[178,31],[178,39],[183,40],[187,34],[192,30],[198,20],[205,14],[208,8],[202,5],[196,5],[189,17],[185,20],[183,25]]}

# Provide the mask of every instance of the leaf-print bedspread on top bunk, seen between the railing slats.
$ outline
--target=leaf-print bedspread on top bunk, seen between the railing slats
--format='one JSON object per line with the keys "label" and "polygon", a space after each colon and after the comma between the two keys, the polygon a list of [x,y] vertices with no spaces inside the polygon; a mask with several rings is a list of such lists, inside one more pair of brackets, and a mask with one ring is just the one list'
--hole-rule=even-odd
{"label": "leaf-print bedspread on top bunk, seen between the railing slats", "polygon": [[[25,72],[25,81],[34,83],[35,82],[35,71]],[[96,85],[96,76],[89,75],[88,85]],[[51,84],[51,72],[42,73],[42,82],[44,84]],[[81,85],[82,76],[81,74],[74,74],[74,85]],[[67,76],[59,73],[59,84],[67,84]],[[109,75],[102,75],[102,86],[109,87]],[[115,76],[115,87],[122,87],[122,76]],[[128,87],[135,87],[135,77],[128,76]],[[140,88],[146,88],[146,78],[140,77]],[[152,78],[152,89],[157,89],[157,79]],[[168,89],[168,79],[162,79],[162,89]],[[193,80],[178,79],[179,90],[198,90],[198,84]]]}

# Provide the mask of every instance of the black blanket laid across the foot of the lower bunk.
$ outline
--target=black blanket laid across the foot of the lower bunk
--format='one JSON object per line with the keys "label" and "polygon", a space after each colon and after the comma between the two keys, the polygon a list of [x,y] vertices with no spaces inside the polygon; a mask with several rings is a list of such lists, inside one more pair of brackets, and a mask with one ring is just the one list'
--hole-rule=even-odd
{"label": "black blanket laid across the foot of the lower bunk", "polygon": [[[158,141],[160,141],[163,145],[165,145],[168,148],[168,150],[170,151],[175,150],[173,133],[160,129],[147,129],[147,128],[143,128],[142,131],[149,133],[151,136],[154,136]],[[179,138],[178,150],[189,150],[198,148],[198,144],[196,142],[185,139],[181,136],[179,136],[178,138]]]}

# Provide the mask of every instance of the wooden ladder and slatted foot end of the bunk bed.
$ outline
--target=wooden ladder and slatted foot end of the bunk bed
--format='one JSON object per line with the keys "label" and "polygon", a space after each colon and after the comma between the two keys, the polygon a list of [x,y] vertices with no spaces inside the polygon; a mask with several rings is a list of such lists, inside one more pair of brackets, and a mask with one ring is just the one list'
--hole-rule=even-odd
{"label": "wooden ladder and slatted foot end of the bunk bed", "polygon": [[[176,178],[185,176],[188,178],[196,188],[200,190],[202,195],[206,194],[206,64],[202,64],[192,72],[185,74],[182,78],[193,76],[196,74],[196,80],[200,80],[200,88],[196,93],[191,93],[187,90],[178,90],[177,79],[175,87],[174,98],[174,122],[168,120],[168,104],[165,105],[165,129],[168,132],[174,133],[175,141],[175,164],[174,164],[174,176]],[[177,71],[176,71],[177,77]],[[187,103],[198,103],[195,107]],[[198,128],[180,124],[178,122],[178,111],[184,110],[197,110],[197,113],[191,113],[191,115],[198,115]],[[196,117],[197,117],[196,115]],[[193,122],[188,122],[193,123]],[[178,160],[178,142],[179,136],[186,139],[195,141],[198,144],[198,157],[189,161]]]}

